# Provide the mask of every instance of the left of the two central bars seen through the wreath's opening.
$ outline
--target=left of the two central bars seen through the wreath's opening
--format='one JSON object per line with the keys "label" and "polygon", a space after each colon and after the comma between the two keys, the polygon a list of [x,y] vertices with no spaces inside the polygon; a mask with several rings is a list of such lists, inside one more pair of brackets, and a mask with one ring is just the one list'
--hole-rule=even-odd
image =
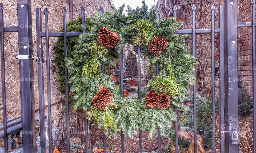
{"label": "left of the two central bars seen through the wreath's opening", "polygon": [[[123,96],[123,48],[120,52],[120,94]],[[125,135],[121,133],[122,153],[125,152]]]}

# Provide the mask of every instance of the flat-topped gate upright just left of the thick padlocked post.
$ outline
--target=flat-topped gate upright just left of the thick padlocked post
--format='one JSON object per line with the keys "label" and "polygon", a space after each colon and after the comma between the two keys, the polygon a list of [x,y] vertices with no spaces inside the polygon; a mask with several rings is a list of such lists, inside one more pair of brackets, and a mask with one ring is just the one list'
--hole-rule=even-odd
{"label": "flat-topped gate upright just left of the thick padlocked post", "polygon": [[224,121],[224,16],[223,4],[219,4],[219,141],[220,153],[225,152]]}

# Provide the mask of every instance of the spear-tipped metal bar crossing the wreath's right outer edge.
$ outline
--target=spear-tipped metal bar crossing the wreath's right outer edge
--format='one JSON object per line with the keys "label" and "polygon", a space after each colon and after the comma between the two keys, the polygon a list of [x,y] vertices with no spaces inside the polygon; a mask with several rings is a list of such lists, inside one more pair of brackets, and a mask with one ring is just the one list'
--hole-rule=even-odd
{"label": "spear-tipped metal bar crossing the wreath's right outer edge", "polygon": [[[192,12],[193,12],[193,29],[192,29],[192,39],[193,39],[193,56],[195,57],[195,43],[196,43],[196,37],[195,37],[195,10],[196,7],[193,4],[192,6]],[[194,66],[196,68],[196,66]],[[196,69],[193,72],[194,77],[196,77]],[[196,82],[193,86],[193,115],[194,115],[194,153],[197,153],[197,88],[196,88]]]}

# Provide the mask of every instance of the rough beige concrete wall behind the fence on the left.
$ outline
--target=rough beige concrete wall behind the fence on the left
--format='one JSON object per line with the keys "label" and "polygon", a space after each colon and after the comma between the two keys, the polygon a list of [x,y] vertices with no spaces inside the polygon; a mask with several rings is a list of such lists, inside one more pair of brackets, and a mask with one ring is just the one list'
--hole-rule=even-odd
{"label": "rough beige concrete wall behind the fence on the left", "polygon": [[[4,24],[5,27],[8,26],[17,26],[17,0],[3,0],[4,4]],[[85,0],[78,1],[74,0],[74,18],[76,19],[80,16],[81,6],[85,7],[86,16],[89,16],[94,13],[95,10],[99,10],[99,7],[102,6],[105,11],[109,10],[111,5],[108,0],[96,1],[96,0]],[[64,0],[32,0],[32,28],[33,28],[33,51],[36,56],[36,14],[35,8],[42,8],[42,24],[43,31],[44,29],[44,8],[47,7],[49,10],[49,31],[57,32],[63,27],[62,19],[62,8],[66,7],[67,9],[67,21],[69,21],[69,1]],[[15,60],[15,55],[18,54],[18,40],[17,33],[5,32],[5,71],[6,71],[6,100],[7,100],[7,117],[11,118],[18,116],[21,113],[20,107],[20,88],[19,88],[19,61]],[[53,63],[54,50],[53,46],[57,38],[50,37],[50,75],[51,75],[51,102],[60,101],[63,98],[63,95],[59,92],[59,85],[56,81],[56,66]],[[43,52],[45,54],[45,39],[43,39]],[[46,56],[46,55],[45,55]],[[45,57],[43,57],[45,58]],[[45,80],[45,105],[47,105],[47,86],[46,86],[46,63],[44,64],[44,80]],[[34,89],[35,89],[35,109],[39,108],[38,105],[38,73],[37,73],[37,63],[34,60]],[[1,91],[2,92],[2,91]],[[2,106],[2,94],[0,95],[0,106]],[[63,108],[63,109],[62,109]],[[61,112],[63,111],[63,114]],[[47,113],[47,109],[46,109]],[[36,116],[39,112],[36,113]],[[2,111],[0,112],[0,123],[2,122]],[[56,127],[61,116],[66,118],[65,109],[61,104],[56,104],[52,106],[52,120],[54,126]],[[60,126],[61,127],[61,126]],[[62,128],[62,127],[61,127]]]}

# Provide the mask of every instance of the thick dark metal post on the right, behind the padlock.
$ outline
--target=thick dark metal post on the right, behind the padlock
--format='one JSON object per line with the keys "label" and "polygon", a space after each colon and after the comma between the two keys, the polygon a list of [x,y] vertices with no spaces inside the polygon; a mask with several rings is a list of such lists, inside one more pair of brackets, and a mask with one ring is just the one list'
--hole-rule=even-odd
{"label": "thick dark metal post on the right, behind the padlock", "polygon": [[[225,131],[238,131],[237,0],[224,1]],[[238,153],[232,133],[225,134],[225,152]]]}

